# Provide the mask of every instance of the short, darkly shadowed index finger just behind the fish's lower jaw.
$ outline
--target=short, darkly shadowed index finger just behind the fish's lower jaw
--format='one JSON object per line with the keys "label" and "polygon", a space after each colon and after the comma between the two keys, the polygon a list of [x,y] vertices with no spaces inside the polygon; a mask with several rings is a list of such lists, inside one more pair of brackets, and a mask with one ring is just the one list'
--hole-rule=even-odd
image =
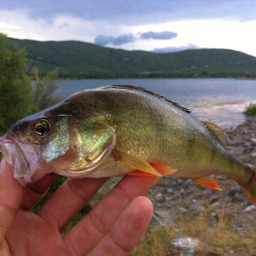
{"label": "short, darkly shadowed index finger just behind the fish's lower jaw", "polygon": [[57,180],[57,174],[47,174],[35,184],[23,189],[22,209],[31,210],[47,193]]}

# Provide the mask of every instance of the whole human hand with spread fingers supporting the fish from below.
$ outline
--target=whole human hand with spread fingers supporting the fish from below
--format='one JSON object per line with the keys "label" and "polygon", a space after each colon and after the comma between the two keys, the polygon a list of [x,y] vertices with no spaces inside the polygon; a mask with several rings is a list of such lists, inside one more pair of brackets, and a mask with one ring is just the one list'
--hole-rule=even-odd
{"label": "whole human hand with spread fingers supporting the fish from below", "polygon": [[106,179],[69,178],[35,214],[30,210],[57,175],[48,174],[22,188],[5,159],[0,173],[1,256],[128,255],[152,217],[152,203],[142,195],[158,179],[126,176],[62,237],[61,230]]}

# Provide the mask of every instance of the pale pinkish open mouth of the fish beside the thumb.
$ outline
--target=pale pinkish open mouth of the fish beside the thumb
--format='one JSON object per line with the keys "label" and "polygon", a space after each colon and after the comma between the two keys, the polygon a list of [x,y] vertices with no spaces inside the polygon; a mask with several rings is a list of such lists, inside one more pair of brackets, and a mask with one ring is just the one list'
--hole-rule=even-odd
{"label": "pale pinkish open mouth of the fish beside the thumb", "polygon": [[13,170],[15,179],[18,179],[23,186],[30,183],[31,176],[35,172],[31,166],[38,164],[35,148],[16,141],[10,135],[3,135],[0,137],[0,151]]}

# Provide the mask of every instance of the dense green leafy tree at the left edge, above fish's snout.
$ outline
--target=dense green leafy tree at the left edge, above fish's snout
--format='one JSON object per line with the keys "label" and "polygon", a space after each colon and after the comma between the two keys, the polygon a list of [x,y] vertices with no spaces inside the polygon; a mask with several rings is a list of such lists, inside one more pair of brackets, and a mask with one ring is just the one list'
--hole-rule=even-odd
{"label": "dense green leafy tree at the left edge, above fish's snout", "polygon": [[26,52],[0,33],[0,134],[18,119],[32,113]]}

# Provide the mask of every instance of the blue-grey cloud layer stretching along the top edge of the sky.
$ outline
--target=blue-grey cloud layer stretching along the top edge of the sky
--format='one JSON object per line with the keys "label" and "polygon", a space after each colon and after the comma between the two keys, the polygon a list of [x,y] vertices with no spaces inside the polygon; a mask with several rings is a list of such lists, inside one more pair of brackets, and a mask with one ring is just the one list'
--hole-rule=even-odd
{"label": "blue-grey cloud layer stretching along the top edge of the sky", "polygon": [[1,0],[0,9],[24,9],[33,18],[48,20],[58,14],[119,24],[148,24],[183,19],[255,19],[256,0]]}

